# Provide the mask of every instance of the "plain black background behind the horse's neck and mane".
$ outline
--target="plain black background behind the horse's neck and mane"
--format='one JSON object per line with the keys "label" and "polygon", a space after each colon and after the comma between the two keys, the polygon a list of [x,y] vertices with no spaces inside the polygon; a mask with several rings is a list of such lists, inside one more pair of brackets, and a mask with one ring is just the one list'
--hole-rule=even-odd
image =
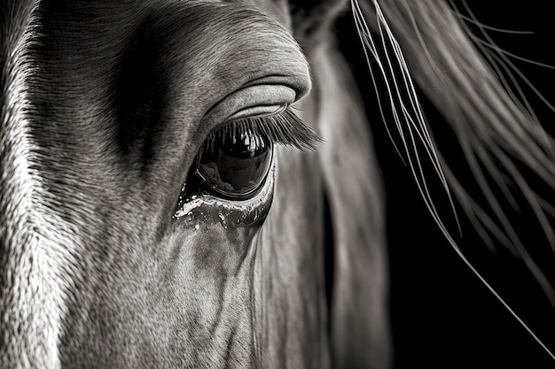
{"label": "plain black background behind the horse's neck and mane", "polygon": [[[490,31],[489,35],[498,46],[522,57],[555,65],[555,26],[550,1],[476,0],[467,3],[486,25],[534,32],[534,35],[512,35]],[[555,367],[555,361],[478,281],[435,226],[409,169],[396,154],[376,113],[370,74],[363,63],[351,19],[350,14],[346,14],[337,27],[341,48],[356,70],[357,82],[366,99],[385,177],[395,368]],[[514,63],[548,100],[555,102],[555,70],[518,60]],[[535,98],[530,89],[525,89],[525,94],[553,135],[555,130],[551,122],[555,113]],[[457,144],[445,128],[442,117],[426,99],[423,105],[441,149],[448,158],[460,160]],[[545,196],[550,194],[553,196],[547,191]],[[547,200],[554,203],[552,197]],[[446,218],[450,216],[449,212],[444,214]],[[465,255],[543,342],[555,350],[555,311],[541,288],[519,258],[514,258],[503,246],[499,246],[496,253],[491,252],[465,222],[462,211],[459,214],[464,231],[464,239],[459,243]],[[555,258],[549,244],[539,238],[539,228],[531,220],[530,212],[523,210],[512,219],[520,226],[523,242],[553,283]],[[455,228],[451,230],[456,231]]]}

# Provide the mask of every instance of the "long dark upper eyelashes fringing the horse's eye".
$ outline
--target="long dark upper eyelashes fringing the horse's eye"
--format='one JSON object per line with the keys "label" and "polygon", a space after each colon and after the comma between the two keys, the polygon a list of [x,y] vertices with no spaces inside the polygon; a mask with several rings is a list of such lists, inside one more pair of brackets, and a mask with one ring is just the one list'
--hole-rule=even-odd
{"label": "long dark upper eyelashes fringing the horse's eye", "polygon": [[212,150],[215,144],[234,135],[263,136],[275,144],[311,151],[317,150],[317,145],[324,142],[312,127],[287,108],[279,114],[232,120],[216,127],[208,134],[200,152]]}

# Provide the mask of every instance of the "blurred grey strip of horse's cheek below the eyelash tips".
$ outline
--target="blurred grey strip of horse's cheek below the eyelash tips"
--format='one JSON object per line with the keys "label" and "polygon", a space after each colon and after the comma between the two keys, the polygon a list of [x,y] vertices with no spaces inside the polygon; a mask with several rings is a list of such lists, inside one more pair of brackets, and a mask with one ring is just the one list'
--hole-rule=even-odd
{"label": "blurred grey strip of horse's cheek below the eyelash tips", "polygon": [[272,358],[285,357],[290,367],[327,367],[317,156],[278,148],[277,158],[276,192],[261,230],[254,273],[262,364],[270,367]]}

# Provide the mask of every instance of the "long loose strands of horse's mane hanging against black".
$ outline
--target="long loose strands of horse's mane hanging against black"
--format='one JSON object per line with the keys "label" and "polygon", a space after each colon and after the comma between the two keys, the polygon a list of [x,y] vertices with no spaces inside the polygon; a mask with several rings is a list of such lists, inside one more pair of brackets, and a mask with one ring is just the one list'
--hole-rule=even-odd
{"label": "long loose strands of horse's mane hanging against black", "polygon": [[[379,96],[382,119],[387,122],[393,118],[393,124],[386,124],[387,132],[409,165],[428,211],[458,256],[555,359],[459,249],[456,237],[438,211],[437,196],[429,189],[429,182],[435,180],[426,171],[427,166],[434,168],[453,211],[456,204],[452,198],[490,248],[494,242],[500,242],[522,258],[555,306],[550,281],[530,256],[505,211],[507,207],[518,210],[521,202],[516,198],[522,198],[543,231],[544,243],[555,249],[555,234],[550,225],[553,207],[541,192],[548,188],[552,196],[555,188],[553,138],[539,123],[514,73],[533,86],[496,48],[467,7],[468,16],[458,12],[452,1],[447,4],[432,0],[361,3],[351,0],[351,8],[377,95],[376,81],[382,81],[387,91],[385,96]],[[473,35],[464,21],[477,25],[485,41]],[[496,52],[485,50],[484,44]],[[504,75],[508,75],[509,81]],[[437,149],[419,104],[418,91],[442,113],[457,136],[469,171],[483,194],[481,199],[467,192],[457,171],[449,168],[448,160]],[[458,226],[456,213],[455,219]]]}

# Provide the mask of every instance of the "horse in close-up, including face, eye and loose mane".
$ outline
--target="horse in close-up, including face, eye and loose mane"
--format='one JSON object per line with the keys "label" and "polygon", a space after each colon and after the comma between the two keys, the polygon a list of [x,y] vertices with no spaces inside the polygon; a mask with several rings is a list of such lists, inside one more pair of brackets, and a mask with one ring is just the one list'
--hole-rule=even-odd
{"label": "horse in close-up, including face, eye and loose mane", "polygon": [[[385,188],[334,29],[348,8],[449,243],[421,157],[551,296],[478,162],[518,184],[551,240],[513,163],[551,185],[552,139],[454,4],[0,4],[1,367],[392,365]],[[493,215],[436,153],[417,84]]]}

